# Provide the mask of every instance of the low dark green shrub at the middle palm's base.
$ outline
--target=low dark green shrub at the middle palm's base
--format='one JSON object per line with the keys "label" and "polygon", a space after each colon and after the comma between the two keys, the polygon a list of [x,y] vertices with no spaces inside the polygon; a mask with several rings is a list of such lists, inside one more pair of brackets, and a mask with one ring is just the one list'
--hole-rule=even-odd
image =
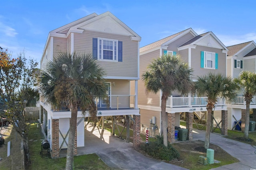
{"label": "low dark green shrub at the middle palm's base", "polygon": [[161,160],[170,161],[179,158],[179,152],[168,143],[168,147],[162,143],[162,136],[157,136],[157,140],[152,143],[142,143],[140,148],[148,155]]}

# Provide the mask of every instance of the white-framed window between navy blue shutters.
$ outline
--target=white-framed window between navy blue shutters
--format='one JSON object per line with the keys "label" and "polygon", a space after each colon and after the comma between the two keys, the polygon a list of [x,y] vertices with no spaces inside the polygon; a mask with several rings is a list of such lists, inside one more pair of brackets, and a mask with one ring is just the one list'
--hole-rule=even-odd
{"label": "white-framed window between navy blue shutters", "polygon": [[98,38],[98,59],[117,61],[118,59],[118,41],[112,39]]}

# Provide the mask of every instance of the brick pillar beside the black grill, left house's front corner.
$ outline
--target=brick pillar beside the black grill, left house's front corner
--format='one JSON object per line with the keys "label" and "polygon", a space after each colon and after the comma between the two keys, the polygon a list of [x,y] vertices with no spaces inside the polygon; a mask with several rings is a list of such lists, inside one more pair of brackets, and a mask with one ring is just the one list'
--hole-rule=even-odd
{"label": "brick pillar beside the black grill, left house's front corner", "polygon": [[59,119],[52,119],[52,157],[59,157]]}

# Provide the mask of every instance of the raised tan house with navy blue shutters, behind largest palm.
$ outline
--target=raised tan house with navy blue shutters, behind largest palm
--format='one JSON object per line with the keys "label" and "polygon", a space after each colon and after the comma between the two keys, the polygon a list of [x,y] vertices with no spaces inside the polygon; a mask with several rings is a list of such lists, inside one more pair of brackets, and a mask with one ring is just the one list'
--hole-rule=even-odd
{"label": "raised tan house with navy blue shutters, behind largest palm", "polygon": [[[139,42],[141,37],[110,12],[101,15],[90,14],[50,31],[40,69],[47,61],[52,61],[61,52],[92,53],[98,64],[106,71],[109,83],[109,103],[106,99],[96,99],[98,116],[127,115],[140,123],[137,105],[137,83],[139,80]],[[135,82],[135,91],[130,92],[130,81]],[[131,108],[130,101],[133,102]],[[57,110],[40,96],[43,131],[47,135],[52,157],[58,157],[60,149],[67,148],[69,108]],[[109,108],[107,107],[109,105]],[[88,115],[87,115],[88,116]],[[113,122],[114,123],[114,122]],[[139,134],[139,128],[134,131]],[[134,146],[139,145],[139,135],[134,137]],[[84,115],[78,111],[76,147],[84,147]],[[75,149],[76,152],[76,149]],[[76,153],[74,153],[76,154]]]}

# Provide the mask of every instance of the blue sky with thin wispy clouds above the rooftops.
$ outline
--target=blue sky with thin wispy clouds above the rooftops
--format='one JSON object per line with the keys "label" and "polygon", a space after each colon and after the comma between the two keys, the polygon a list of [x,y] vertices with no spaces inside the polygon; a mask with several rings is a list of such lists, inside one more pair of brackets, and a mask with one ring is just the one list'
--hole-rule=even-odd
{"label": "blue sky with thin wispy clouds above the rooftops", "polygon": [[256,42],[255,0],[5,0],[0,47],[40,61],[48,33],[92,13],[110,11],[142,37],[140,47],[192,28],[226,46]]}

